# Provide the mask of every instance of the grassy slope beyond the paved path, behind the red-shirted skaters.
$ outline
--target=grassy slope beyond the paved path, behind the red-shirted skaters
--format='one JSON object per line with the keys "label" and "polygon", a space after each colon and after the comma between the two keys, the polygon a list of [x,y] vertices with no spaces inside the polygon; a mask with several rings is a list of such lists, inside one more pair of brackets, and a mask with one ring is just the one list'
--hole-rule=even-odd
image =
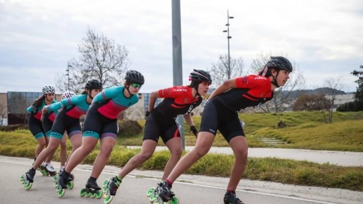
{"label": "grassy slope beyond the paved path, behind the red-shirted skaters", "polygon": [[[289,112],[264,114],[239,114],[245,123],[245,134],[249,147],[268,147],[258,138],[279,138],[288,145],[278,148],[301,148],[311,150],[363,151],[363,112],[336,112],[333,123],[325,124],[321,112]],[[200,116],[193,117],[197,129],[200,127]],[[286,128],[277,128],[277,123],[284,121]],[[145,121],[139,121],[144,126]],[[195,136],[189,132],[184,122],[185,143],[194,146]],[[143,133],[135,136],[120,136],[119,145],[141,145]],[[158,145],[163,145],[159,140]],[[226,147],[228,143],[217,132],[213,142],[215,147]]]}

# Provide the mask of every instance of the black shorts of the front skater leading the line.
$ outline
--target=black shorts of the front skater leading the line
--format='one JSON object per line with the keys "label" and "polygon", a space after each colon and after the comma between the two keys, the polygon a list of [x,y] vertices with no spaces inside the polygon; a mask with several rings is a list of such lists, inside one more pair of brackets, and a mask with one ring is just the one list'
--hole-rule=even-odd
{"label": "black shorts of the front skater leading the line", "polygon": [[204,108],[199,131],[216,135],[217,130],[228,143],[235,136],[245,136],[238,114],[229,110],[218,99],[212,99]]}

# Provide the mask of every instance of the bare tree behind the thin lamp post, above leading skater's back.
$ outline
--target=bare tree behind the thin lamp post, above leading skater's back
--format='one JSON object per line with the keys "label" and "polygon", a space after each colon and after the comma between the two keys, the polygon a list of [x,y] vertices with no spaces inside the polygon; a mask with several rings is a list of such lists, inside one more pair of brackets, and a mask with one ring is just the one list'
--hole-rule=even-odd
{"label": "bare tree behind the thin lamp post, above leading skater's back", "polygon": [[242,71],[245,66],[243,59],[232,58],[230,59],[230,68],[228,67],[228,55],[220,55],[219,61],[212,64],[211,76],[213,84],[219,85],[223,81],[231,78],[242,76]]}

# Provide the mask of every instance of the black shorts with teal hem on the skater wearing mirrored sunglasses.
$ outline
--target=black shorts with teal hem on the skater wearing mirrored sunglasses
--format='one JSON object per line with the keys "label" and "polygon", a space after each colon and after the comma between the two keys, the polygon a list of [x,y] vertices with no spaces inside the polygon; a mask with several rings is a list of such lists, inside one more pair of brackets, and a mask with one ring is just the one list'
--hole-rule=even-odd
{"label": "black shorts with teal hem on the skater wearing mirrored sunglasses", "polygon": [[93,104],[87,111],[83,136],[92,136],[96,139],[105,137],[117,138],[118,124],[117,119],[110,119],[97,111],[99,104]]}

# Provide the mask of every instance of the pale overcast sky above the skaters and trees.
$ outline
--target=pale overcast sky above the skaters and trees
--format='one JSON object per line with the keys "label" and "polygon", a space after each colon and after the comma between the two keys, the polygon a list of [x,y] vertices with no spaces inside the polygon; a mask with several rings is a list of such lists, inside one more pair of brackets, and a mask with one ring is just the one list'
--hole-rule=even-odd
{"label": "pale overcast sky above the skaters and trees", "polygon": [[[306,88],[342,77],[363,64],[362,0],[181,0],[183,82],[193,68],[210,69],[227,54],[246,69],[259,53],[285,53],[306,77]],[[40,91],[55,85],[88,26],[129,50],[130,69],[142,72],[140,92],[172,86],[171,1],[0,0],[0,92]]]}

